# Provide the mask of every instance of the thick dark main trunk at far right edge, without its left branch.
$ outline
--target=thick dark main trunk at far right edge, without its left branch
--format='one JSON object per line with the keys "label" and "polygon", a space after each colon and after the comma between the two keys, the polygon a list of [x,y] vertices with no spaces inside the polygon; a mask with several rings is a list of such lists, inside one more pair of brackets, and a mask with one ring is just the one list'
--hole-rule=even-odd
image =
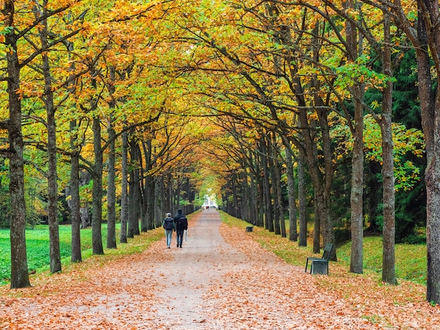
{"label": "thick dark main trunk at far right edge, without its left branch", "polygon": [[[418,51],[418,67],[420,72],[420,110],[422,112],[422,127],[425,134],[427,150],[427,169],[425,182],[427,190],[427,301],[440,303],[440,31],[439,4],[435,0],[418,1],[419,6],[419,40],[420,45],[429,44],[430,53],[436,68],[436,95],[432,101],[430,90],[428,52],[420,48]],[[429,19],[429,21],[425,21]],[[422,87],[422,85],[424,85]],[[422,100],[425,98],[425,100]]]}

